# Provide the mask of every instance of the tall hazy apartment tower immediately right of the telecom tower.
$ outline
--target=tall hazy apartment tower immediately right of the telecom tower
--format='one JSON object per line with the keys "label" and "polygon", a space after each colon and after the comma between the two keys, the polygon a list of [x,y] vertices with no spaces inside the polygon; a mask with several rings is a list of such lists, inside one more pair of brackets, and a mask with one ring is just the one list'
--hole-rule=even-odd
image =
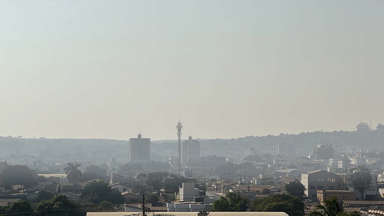
{"label": "tall hazy apartment tower immediately right of the telecom tower", "polygon": [[181,163],[185,164],[189,161],[200,161],[200,141],[192,140],[192,136],[188,140],[183,141],[181,145]]}

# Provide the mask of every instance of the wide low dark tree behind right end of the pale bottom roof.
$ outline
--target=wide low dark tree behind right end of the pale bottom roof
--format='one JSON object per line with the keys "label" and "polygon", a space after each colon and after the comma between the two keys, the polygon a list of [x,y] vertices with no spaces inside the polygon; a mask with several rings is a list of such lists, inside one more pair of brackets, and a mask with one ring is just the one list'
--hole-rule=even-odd
{"label": "wide low dark tree behind right end of the pale bottom roof", "polygon": [[253,199],[251,211],[283,211],[292,216],[304,215],[304,204],[301,199],[291,194],[274,194],[263,199]]}

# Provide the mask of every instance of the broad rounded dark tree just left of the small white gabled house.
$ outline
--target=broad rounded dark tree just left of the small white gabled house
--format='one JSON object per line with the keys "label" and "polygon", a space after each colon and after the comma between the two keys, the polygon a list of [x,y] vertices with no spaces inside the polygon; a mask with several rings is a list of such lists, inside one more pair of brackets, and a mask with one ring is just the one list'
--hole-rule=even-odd
{"label": "broad rounded dark tree just left of the small white gabled house", "polygon": [[81,200],[94,204],[99,204],[101,201],[109,201],[112,203],[124,202],[121,193],[109,187],[104,181],[92,181],[88,183],[81,193]]}

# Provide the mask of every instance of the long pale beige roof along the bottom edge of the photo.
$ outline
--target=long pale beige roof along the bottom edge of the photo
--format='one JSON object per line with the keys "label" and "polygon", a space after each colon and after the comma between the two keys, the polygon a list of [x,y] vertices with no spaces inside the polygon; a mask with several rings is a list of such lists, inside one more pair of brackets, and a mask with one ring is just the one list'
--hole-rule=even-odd
{"label": "long pale beige roof along the bottom edge of the photo", "polygon": [[[197,216],[197,211],[181,212],[181,211],[171,211],[171,212],[158,212],[156,214],[169,215],[169,216]],[[87,212],[87,216],[127,216],[131,214],[136,214],[141,216],[139,212]],[[148,213],[148,216],[156,216],[156,214]],[[257,211],[212,211],[209,213],[210,216],[288,216],[284,212],[257,212]]]}

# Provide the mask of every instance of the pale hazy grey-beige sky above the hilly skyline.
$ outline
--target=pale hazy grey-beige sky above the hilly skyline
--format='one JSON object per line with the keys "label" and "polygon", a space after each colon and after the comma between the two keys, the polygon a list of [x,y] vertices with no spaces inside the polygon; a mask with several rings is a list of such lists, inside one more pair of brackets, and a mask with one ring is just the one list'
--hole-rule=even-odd
{"label": "pale hazy grey-beige sky above the hilly skyline", "polygon": [[0,1],[0,135],[384,123],[384,1]]}

